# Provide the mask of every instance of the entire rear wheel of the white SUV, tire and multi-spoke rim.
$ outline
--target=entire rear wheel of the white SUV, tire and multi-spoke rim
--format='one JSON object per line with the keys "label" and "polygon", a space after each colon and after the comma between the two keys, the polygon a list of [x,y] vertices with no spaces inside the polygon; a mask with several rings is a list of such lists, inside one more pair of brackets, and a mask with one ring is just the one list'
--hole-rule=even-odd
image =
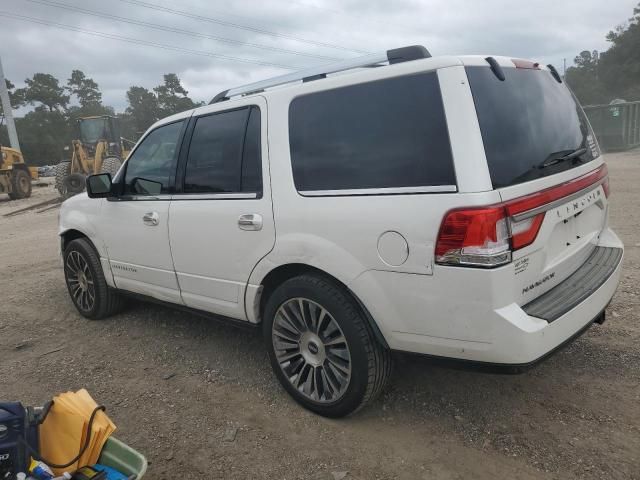
{"label": "entire rear wheel of the white SUV, tire and multi-spoke rim", "polygon": [[344,288],[302,275],[269,297],[264,337],[278,380],[302,406],[343,417],[373,401],[391,372],[391,354]]}

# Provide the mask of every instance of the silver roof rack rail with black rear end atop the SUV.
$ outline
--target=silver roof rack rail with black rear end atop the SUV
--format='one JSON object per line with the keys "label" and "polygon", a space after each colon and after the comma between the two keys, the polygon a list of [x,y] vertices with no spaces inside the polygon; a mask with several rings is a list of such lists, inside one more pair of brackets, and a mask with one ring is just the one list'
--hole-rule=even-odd
{"label": "silver roof rack rail with black rear end atop the SUV", "polygon": [[343,72],[345,70],[351,70],[354,68],[367,68],[367,67],[379,67],[383,63],[389,63],[393,65],[395,63],[409,62],[411,60],[418,60],[421,58],[429,58],[431,54],[422,45],[411,45],[408,47],[394,48],[387,50],[385,53],[373,53],[365,55],[363,57],[351,58],[342,60],[340,62],[331,63],[329,65],[321,65],[319,67],[309,68],[307,70],[300,70],[298,72],[287,73],[278,77],[269,78],[267,80],[261,80],[259,82],[249,83],[241,87],[231,88],[218,93],[213,100],[209,102],[209,105],[213,103],[229,100],[231,97],[238,95],[249,95],[252,93],[258,93],[265,88],[276,87],[278,85],[284,85],[292,82],[311,82],[326,78],[327,74]]}

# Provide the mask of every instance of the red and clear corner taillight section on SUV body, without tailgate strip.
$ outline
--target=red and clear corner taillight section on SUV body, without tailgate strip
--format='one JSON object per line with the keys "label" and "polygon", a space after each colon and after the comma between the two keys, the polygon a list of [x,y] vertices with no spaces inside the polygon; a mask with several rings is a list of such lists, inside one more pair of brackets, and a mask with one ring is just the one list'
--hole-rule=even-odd
{"label": "red and clear corner taillight section on SUV body, without tailgate strip", "polygon": [[452,210],[436,243],[436,262],[496,267],[511,261],[509,228],[503,205]]}

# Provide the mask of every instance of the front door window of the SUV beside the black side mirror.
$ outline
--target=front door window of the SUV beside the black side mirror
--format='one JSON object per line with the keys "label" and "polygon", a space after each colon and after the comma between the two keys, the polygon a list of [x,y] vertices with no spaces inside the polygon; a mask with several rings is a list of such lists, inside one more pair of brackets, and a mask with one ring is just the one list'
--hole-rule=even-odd
{"label": "front door window of the SUV beside the black side mirror", "polygon": [[[127,161],[124,177],[124,192],[134,195],[149,195],[144,184],[160,184],[160,193],[169,192],[169,183],[175,173],[178,140],[184,121],[163,125],[149,133]],[[154,189],[155,190],[155,189]]]}

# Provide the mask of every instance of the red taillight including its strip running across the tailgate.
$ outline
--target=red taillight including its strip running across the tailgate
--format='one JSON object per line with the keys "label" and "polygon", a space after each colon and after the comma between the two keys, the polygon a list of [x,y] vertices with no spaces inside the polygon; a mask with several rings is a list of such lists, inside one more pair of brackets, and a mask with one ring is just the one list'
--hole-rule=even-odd
{"label": "red taillight including its strip running across the tailgate", "polygon": [[[497,267],[511,261],[511,253],[531,245],[550,205],[591,186],[602,185],[609,197],[606,165],[581,177],[505,203],[448,212],[436,241],[436,263]],[[535,211],[534,211],[535,210]]]}

